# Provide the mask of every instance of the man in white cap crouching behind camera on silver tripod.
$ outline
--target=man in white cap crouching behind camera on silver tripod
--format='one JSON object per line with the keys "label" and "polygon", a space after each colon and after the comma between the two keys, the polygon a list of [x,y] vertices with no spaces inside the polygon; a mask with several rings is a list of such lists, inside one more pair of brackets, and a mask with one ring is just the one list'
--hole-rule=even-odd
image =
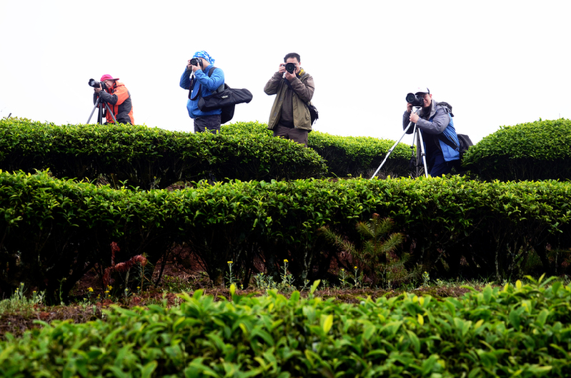
{"label": "man in white cap crouching behind camera on silver tripod", "polygon": [[[402,116],[402,128],[406,129],[409,122],[416,123],[424,140],[428,174],[432,177],[446,175],[457,163],[460,163],[459,149],[452,148],[444,141],[446,138],[455,145],[460,145],[452,122],[452,113],[446,103],[432,100],[428,88],[418,88],[414,95],[419,101],[419,110],[412,113],[413,104],[407,103],[407,111]],[[411,134],[413,131],[414,128],[411,127],[407,133]],[[418,148],[419,143],[417,150]]]}

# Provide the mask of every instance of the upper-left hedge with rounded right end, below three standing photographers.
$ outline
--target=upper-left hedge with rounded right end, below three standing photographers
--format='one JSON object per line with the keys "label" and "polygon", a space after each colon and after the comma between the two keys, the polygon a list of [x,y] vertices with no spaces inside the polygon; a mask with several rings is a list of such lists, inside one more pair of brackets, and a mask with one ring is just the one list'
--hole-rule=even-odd
{"label": "upper-left hedge with rounded right end, below three standing photographers", "polygon": [[141,189],[192,180],[320,177],[314,150],[260,133],[179,133],[131,125],[68,125],[0,120],[0,169],[49,169],[59,178],[103,178]]}

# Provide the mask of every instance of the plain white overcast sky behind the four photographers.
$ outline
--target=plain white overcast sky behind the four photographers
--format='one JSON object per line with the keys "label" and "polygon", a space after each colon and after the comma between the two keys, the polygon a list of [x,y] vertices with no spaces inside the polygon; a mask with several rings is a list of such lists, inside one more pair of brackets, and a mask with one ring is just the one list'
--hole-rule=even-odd
{"label": "plain white overcast sky behind the four photographers", "polygon": [[135,123],[192,131],[179,79],[206,50],[254,95],[232,122],[265,123],[264,85],[297,52],[315,81],[314,130],[396,141],[404,97],[427,86],[477,143],[570,118],[570,14],[568,0],[0,0],[0,118],[86,123],[87,81],[109,73],[131,92]]}

